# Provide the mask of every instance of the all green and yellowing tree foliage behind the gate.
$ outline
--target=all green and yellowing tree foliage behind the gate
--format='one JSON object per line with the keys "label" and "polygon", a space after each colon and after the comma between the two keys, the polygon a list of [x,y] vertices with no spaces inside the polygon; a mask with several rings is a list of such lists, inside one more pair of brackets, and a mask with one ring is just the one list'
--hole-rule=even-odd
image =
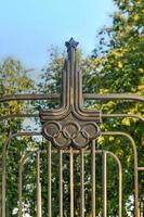
{"label": "all green and yellowing tree foliage behind the gate", "polygon": [[[114,0],[117,10],[112,15],[112,26],[104,27],[97,35],[97,44],[93,49],[92,55],[84,58],[78,51],[78,61],[82,72],[83,92],[93,93],[136,93],[144,95],[144,3],[143,0]],[[61,92],[62,71],[64,66],[65,52],[60,53],[57,50],[52,50],[49,64],[43,68],[42,80],[38,85],[38,91],[43,93]],[[0,65],[0,94],[15,94],[30,91],[34,88],[34,82],[27,76],[25,68],[18,61],[6,59]],[[61,102],[36,102],[34,106],[55,108]],[[89,108],[101,110],[103,113],[125,113],[125,114],[144,114],[144,106],[140,102],[131,101],[86,101],[86,106]],[[22,102],[6,102],[0,105],[2,115],[16,114],[27,108],[28,104]],[[10,133],[19,131],[23,128],[23,120],[18,118],[16,122],[6,120],[1,124],[0,141],[3,142]],[[144,133],[143,123],[136,118],[107,118],[103,119],[101,125],[102,131],[123,131],[128,132],[134,140],[139,153],[139,165],[143,166],[144,157]],[[6,132],[6,135],[4,133]],[[15,194],[17,182],[17,163],[19,157],[27,152],[38,146],[38,142],[30,139],[19,140],[14,139],[8,157],[9,179],[8,179],[8,216],[13,216],[13,210],[16,207],[17,199]],[[47,149],[47,143],[43,142],[42,148]],[[122,216],[134,216],[133,202],[133,151],[127,138],[123,137],[100,137],[96,143],[96,149],[108,150],[114,152],[120,159],[123,169],[123,213]],[[54,148],[53,148],[54,149]],[[18,152],[17,152],[18,151]],[[86,156],[86,216],[91,216],[91,155]],[[32,182],[36,180],[35,159],[26,165],[24,177],[24,202],[31,204],[28,213],[31,216],[36,215],[36,186]],[[52,170],[52,194],[53,194],[53,216],[57,215],[58,209],[58,156],[53,156]],[[64,216],[69,216],[69,156],[64,156]],[[80,216],[79,203],[80,197],[80,156],[75,156],[75,216]],[[96,157],[96,215],[102,216],[102,157]],[[118,215],[118,178],[117,168],[112,158],[108,159],[108,215]],[[48,190],[48,164],[47,158],[41,161],[41,183],[42,183],[42,214],[47,215],[47,195]],[[144,177],[140,174],[140,190],[144,188]],[[28,191],[28,183],[31,190]],[[141,191],[141,201],[144,201],[144,192]],[[14,199],[14,200],[13,200]],[[11,202],[12,201],[12,202]],[[9,203],[11,202],[11,203]],[[67,209],[67,212],[66,212]],[[15,214],[16,215],[16,214]]]}

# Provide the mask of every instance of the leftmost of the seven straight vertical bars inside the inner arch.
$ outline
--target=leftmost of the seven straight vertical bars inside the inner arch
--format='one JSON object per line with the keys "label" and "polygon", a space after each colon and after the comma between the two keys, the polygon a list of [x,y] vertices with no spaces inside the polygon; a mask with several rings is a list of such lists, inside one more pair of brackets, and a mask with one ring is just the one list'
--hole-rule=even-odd
{"label": "leftmost of the seven straight vertical bars inside the inner arch", "polygon": [[37,152],[37,217],[41,217],[40,152]]}

